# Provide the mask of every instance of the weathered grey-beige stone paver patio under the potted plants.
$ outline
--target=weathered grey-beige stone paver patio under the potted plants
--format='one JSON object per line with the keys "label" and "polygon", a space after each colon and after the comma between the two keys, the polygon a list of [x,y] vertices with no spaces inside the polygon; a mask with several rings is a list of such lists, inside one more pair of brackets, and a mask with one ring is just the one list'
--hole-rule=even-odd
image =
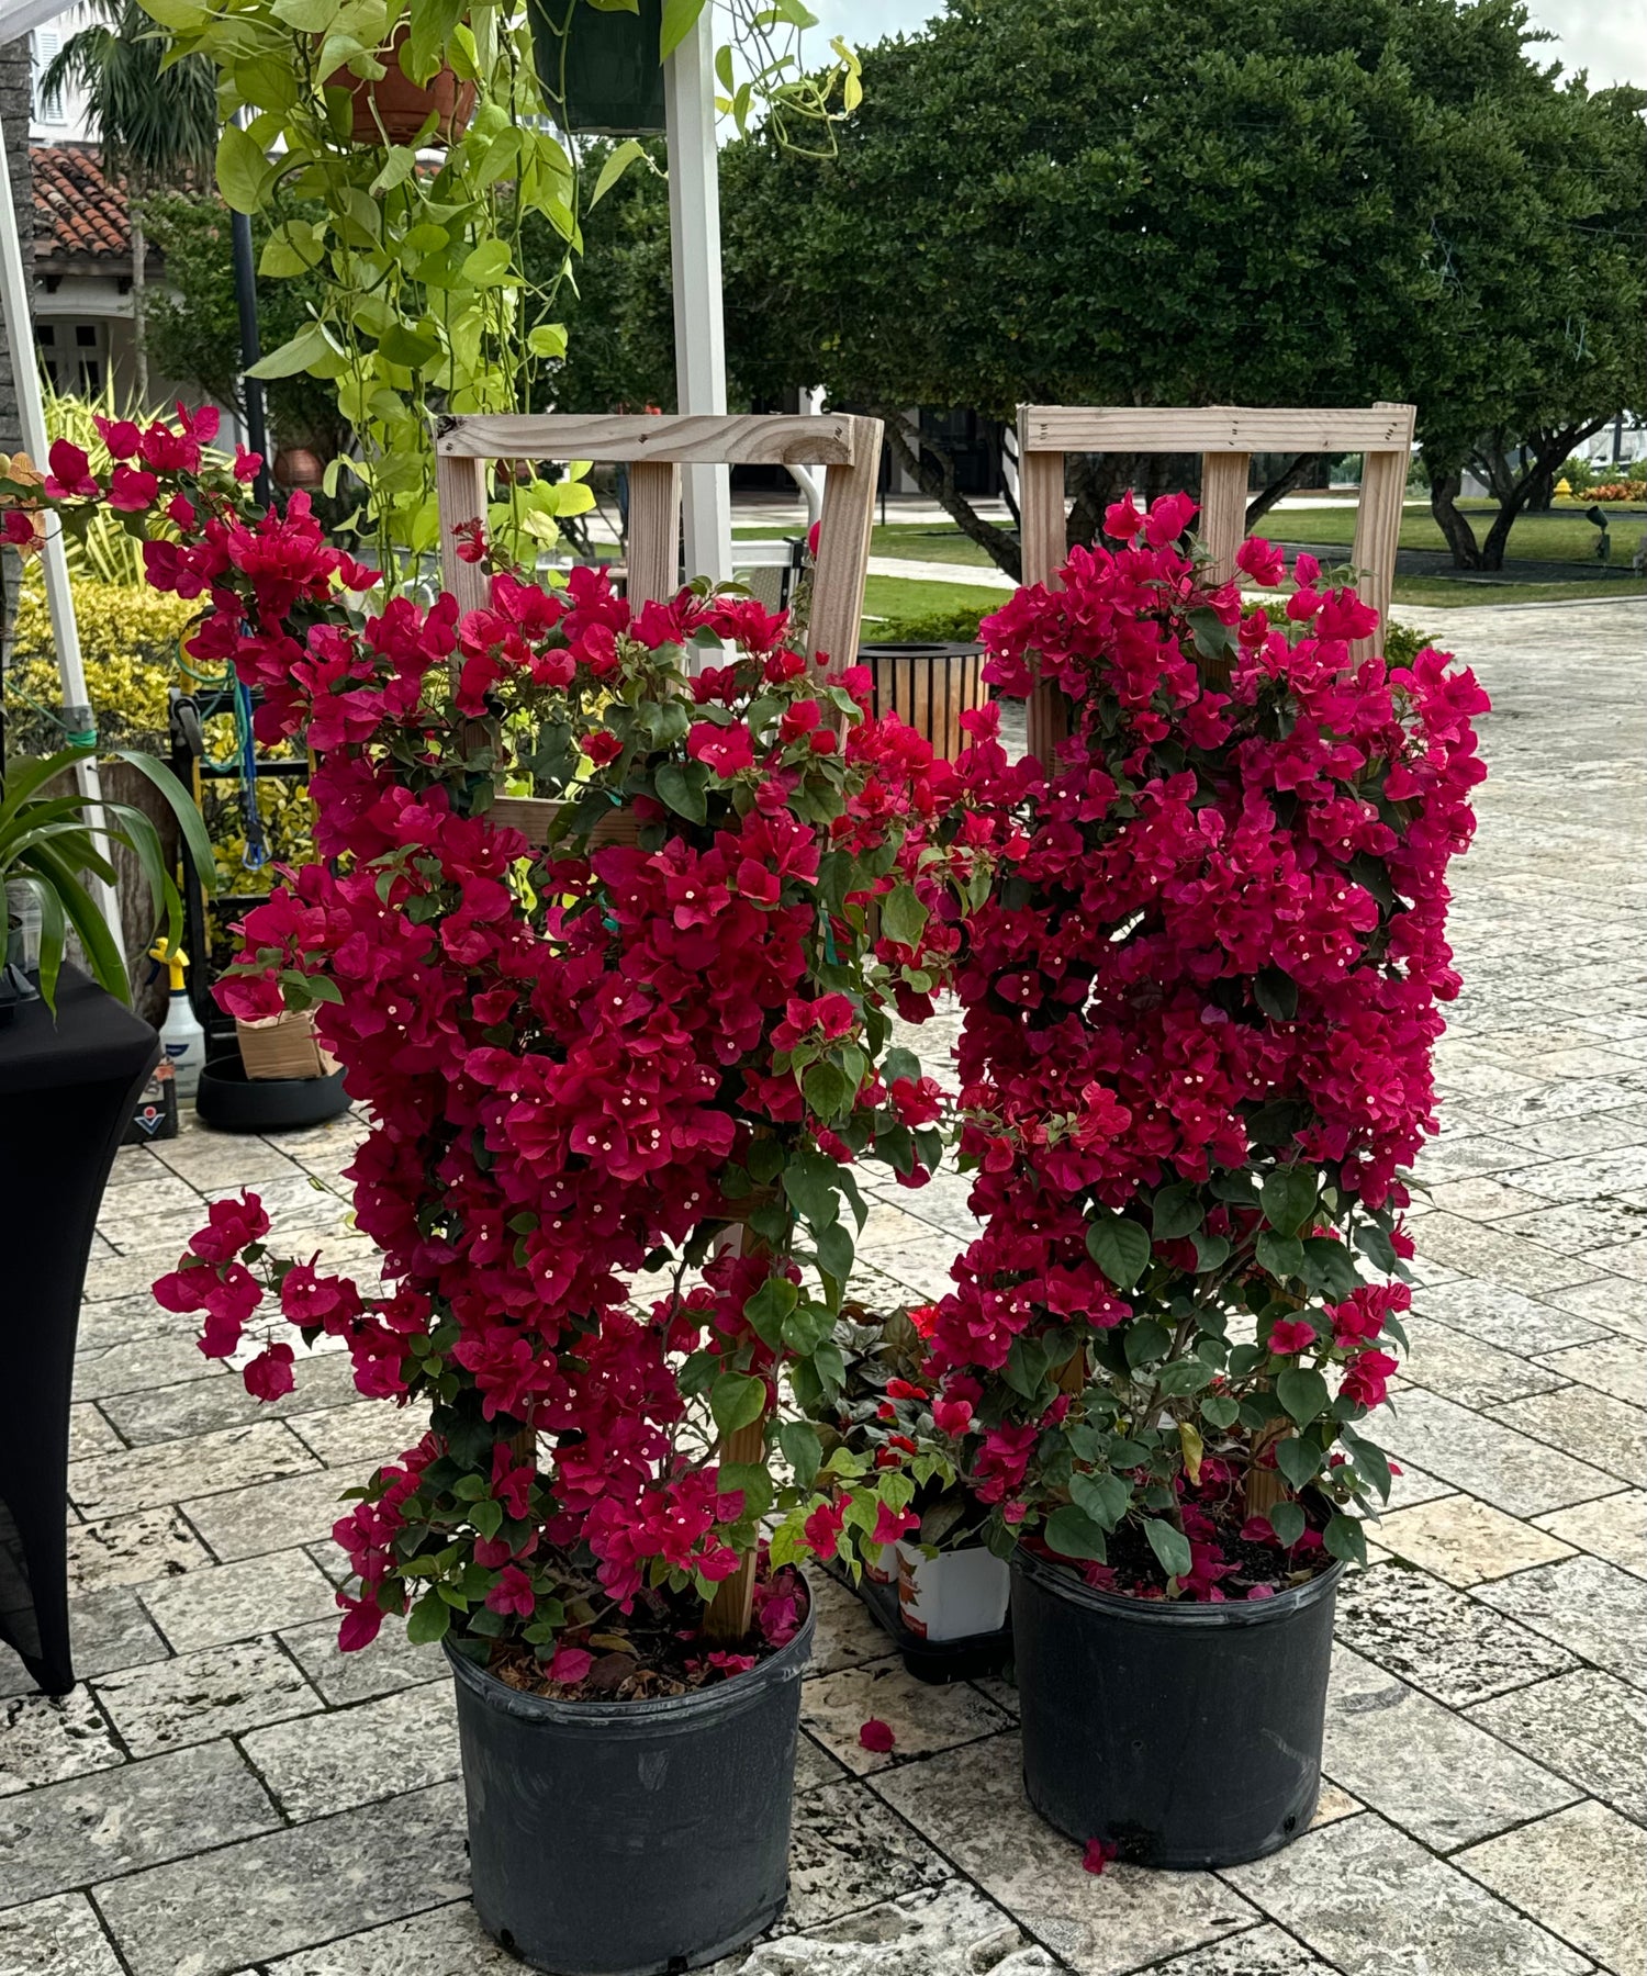
{"label": "weathered grey-beige stone paver patio under the potted plants", "polygon": [[[1317,1828],[1091,1877],[1022,1802],[1010,1688],[919,1688],[824,1583],[783,1940],[716,1976],[1647,1976],[1647,609],[1447,622],[1493,779],[1380,1437],[1406,1474],[1341,1597]],[[332,1646],[336,1494],[409,1423],[338,1356],[261,1409],[146,1296],[217,1190],[366,1251],[356,1130],[121,1154],[75,1393],[83,1686],[28,1693],[0,1654],[0,1976],[518,1968],[465,1901],[439,1652]],[[864,1261],[931,1294],[965,1227],[961,1182],[892,1190]],[[870,1715],[894,1755],[858,1747]]]}

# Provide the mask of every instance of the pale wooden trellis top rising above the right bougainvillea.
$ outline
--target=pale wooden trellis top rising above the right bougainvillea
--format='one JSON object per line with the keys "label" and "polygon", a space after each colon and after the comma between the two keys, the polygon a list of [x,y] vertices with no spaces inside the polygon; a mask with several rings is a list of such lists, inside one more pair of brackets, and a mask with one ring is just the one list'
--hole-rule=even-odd
{"label": "pale wooden trellis top rising above the right bougainvillea", "polygon": [[[1220,581],[1236,573],[1246,534],[1248,466],[1254,453],[1360,453],[1360,500],[1350,561],[1356,589],[1378,611],[1380,638],[1390,620],[1402,498],[1412,458],[1412,405],[1248,407],[1248,405],[1020,405],[1018,510],[1024,583],[1058,585],[1066,561],[1066,453],[1198,453],[1198,534]],[[1374,648],[1364,640],[1356,656]],[[1030,753],[1050,767],[1068,731],[1056,688],[1030,698]]]}

